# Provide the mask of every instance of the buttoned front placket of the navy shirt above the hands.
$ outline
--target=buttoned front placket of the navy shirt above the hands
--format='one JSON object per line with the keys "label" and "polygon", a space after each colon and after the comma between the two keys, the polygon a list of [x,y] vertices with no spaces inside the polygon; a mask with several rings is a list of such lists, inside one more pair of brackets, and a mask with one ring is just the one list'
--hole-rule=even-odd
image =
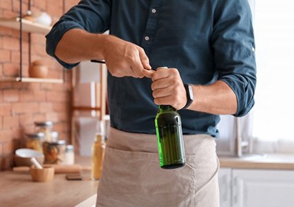
{"label": "buttoned front placket of the navy shirt above the hands", "polygon": [[141,46],[147,55],[149,54],[152,42],[154,41],[161,4],[162,0],[153,0],[150,4],[149,16],[143,34],[143,39],[141,41]]}

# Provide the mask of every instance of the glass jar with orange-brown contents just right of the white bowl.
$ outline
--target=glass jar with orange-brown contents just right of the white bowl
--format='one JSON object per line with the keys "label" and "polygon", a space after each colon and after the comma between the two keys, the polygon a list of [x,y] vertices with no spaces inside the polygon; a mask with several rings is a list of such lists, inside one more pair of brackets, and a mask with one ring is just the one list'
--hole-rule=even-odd
{"label": "glass jar with orange-brown contents just right of the white bowl", "polygon": [[65,140],[56,142],[43,142],[45,164],[62,164],[65,159]]}

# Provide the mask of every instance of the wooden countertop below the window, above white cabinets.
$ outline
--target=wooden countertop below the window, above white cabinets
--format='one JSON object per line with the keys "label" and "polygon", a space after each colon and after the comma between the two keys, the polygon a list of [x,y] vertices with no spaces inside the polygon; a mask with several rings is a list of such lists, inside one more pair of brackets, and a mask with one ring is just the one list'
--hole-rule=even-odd
{"label": "wooden countertop below the window, above white cabinets", "polygon": [[294,170],[294,154],[264,154],[244,157],[220,156],[220,167]]}

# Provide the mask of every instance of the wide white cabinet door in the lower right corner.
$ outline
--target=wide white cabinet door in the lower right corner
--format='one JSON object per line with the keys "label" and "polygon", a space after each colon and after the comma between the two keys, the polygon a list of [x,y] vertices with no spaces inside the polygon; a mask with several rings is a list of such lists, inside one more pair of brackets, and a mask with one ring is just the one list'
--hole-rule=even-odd
{"label": "wide white cabinet door in the lower right corner", "polygon": [[233,170],[233,207],[293,207],[294,171]]}

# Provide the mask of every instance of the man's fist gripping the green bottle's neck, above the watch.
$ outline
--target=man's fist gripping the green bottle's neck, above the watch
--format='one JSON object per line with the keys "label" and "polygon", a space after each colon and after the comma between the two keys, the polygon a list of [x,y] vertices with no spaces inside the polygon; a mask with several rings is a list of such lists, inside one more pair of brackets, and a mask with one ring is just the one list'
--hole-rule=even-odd
{"label": "man's fist gripping the green bottle's neck, above the watch", "polygon": [[143,74],[152,79],[152,96],[156,105],[171,105],[177,110],[185,107],[187,94],[178,69],[144,69]]}

